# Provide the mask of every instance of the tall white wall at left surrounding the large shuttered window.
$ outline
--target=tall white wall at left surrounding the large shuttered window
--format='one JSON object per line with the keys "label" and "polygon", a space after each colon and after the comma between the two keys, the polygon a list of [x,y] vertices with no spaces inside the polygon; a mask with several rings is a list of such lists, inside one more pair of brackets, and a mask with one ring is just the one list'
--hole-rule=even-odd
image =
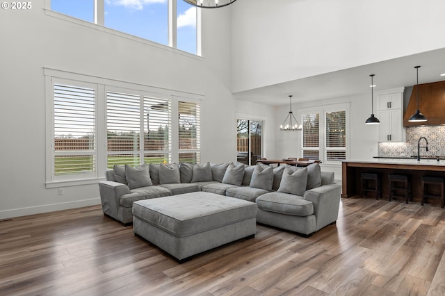
{"label": "tall white wall at left surrounding the large shuttered window", "polygon": [[45,187],[45,67],[203,94],[202,161],[234,160],[229,10],[204,14],[202,59],[49,16],[44,0],[32,4],[0,17],[0,219],[99,204],[97,184],[64,195]]}

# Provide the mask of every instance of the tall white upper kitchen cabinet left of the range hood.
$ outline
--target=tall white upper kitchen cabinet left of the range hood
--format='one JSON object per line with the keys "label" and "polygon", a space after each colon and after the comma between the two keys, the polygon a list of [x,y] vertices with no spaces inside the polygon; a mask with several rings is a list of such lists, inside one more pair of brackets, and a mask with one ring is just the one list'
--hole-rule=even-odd
{"label": "tall white upper kitchen cabinet left of the range hood", "polygon": [[377,118],[380,120],[380,142],[405,142],[403,91],[404,88],[399,88],[377,93]]}

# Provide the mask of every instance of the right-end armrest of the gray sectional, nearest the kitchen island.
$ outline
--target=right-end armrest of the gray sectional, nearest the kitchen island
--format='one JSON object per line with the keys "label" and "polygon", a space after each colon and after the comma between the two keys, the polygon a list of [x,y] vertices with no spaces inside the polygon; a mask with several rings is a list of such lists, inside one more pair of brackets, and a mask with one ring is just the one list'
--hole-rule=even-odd
{"label": "right-end armrest of the gray sectional, nearest the kitchen island", "polygon": [[303,199],[314,204],[316,230],[337,221],[341,199],[340,184],[323,185],[307,190]]}

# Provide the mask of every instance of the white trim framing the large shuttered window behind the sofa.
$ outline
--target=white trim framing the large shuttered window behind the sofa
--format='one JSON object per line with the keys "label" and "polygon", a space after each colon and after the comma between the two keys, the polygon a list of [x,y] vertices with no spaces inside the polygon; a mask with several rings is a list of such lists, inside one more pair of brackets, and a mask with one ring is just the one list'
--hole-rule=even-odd
{"label": "white trim framing the large shuttered window behind the sofa", "polygon": [[[126,81],[118,81],[113,79],[106,79],[97,76],[91,76],[86,74],[78,74],[73,72],[65,72],[57,69],[44,68],[45,79],[45,110],[46,110],[46,149],[45,149],[45,186],[46,188],[59,188],[63,186],[78,186],[86,184],[94,184],[97,181],[104,180],[107,161],[107,147],[106,147],[106,90],[118,91],[118,92],[138,92],[145,96],[159,97],[161,99],[170,99],[172,101],[172,163],[177,162],[179,159],[179,145],[178,145],[178,118],[177,103],[178,101],[190,101],[201,104],[201,115],[203,114],[203,94],[193,94],[188,92],[180,92],[178,90],[168,90],[163,88],[155,88],[149,85],[140,85],[129,83]],[[70,179],[70,180],[55,180],[53,178],[53,159],[54,149],[52,147],[54,143],[54,93],[53,83],[54,80],[58,82],[79,83],[79,85],[92,85],[96,84],[96,173],[95,176],[86,179]],[[176,113],[173,113],[176,112]],[[202,117],[201,117],[202,121]],[[174,125],[175,124],[175,125]],[[201,133],[202,138],[202,133]],[[173,147],[175,147],[174,149]],[[202,153],[202,151],[200,151]]]}

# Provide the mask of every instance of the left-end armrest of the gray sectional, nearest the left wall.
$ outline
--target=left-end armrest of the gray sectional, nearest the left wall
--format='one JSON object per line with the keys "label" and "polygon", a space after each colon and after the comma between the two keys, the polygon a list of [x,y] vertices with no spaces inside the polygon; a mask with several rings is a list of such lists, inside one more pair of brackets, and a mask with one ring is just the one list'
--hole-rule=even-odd
{"label": "left-end armrest of the gray sectional, nearest the left wall", "polygon": [[119,211],[119,199],[122,195],[130,193],[130,188],[122,183],[115,181],[99,181],[100,200],[102,211],[116,220]]}

